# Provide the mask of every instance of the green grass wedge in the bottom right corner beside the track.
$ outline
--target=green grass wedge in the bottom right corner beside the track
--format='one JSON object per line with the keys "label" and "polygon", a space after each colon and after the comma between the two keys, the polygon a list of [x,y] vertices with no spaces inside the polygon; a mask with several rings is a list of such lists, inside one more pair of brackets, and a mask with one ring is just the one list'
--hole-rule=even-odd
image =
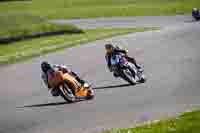
{"label": "green grass wedge in the bottom right corner beside the track", "polygon": [[104,133],[199,133],[200,111],[193,111],[177,118],[161,120],[136,128],[113,129]]}

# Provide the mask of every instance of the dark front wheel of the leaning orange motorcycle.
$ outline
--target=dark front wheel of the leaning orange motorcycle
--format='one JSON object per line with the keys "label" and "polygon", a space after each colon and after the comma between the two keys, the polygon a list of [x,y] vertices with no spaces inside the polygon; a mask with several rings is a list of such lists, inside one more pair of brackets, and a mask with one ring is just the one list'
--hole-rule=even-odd
{"label": "dark front wheel of the leaning orange motorcycle", "polygon": [[63,85],[60,85],[61,96],[69,103],[73,103],[76,101],[76,97],[74,96],[72,90],[69,88],[66,82]]}

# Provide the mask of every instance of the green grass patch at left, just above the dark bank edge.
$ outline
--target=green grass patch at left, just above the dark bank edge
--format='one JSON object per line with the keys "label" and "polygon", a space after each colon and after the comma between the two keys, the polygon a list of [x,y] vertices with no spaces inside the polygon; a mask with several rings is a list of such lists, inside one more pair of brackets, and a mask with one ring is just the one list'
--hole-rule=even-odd
{"label": "green grass patch at left, just above the dark bank edge", "polygon": [[66,31],[66,33],[81,32],[75,26],[49,24],[45,18],[33,16],[28,13],[0,14],[0,29],[0,38],[55,31]]}

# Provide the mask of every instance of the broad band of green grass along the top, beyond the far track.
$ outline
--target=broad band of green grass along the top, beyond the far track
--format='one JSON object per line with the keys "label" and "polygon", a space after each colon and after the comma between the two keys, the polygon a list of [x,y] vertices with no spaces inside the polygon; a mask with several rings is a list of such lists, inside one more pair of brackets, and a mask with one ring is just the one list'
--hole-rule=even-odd
{"label": "broad band of green grass along the top, beyond the far track", "polygon": [[0,3],[0,13],[26,11],[51,19],[70,19],[185,14],[193,7],[200,7],[200,0],[33,0]]}

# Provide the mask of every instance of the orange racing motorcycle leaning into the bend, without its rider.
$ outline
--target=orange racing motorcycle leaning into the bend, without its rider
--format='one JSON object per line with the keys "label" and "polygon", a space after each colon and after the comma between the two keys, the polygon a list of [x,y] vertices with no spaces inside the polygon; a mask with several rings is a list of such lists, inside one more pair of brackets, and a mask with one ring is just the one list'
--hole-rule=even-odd
{"label": "orange racing motorcycle leaning into the bend, without its rider", "polygon": [[94,91],[90,86],[81,86],[73,76],[62,71],[48,74],[48,83],[51,88],[59,89],[60,96],[69,103],[94,97]]}

